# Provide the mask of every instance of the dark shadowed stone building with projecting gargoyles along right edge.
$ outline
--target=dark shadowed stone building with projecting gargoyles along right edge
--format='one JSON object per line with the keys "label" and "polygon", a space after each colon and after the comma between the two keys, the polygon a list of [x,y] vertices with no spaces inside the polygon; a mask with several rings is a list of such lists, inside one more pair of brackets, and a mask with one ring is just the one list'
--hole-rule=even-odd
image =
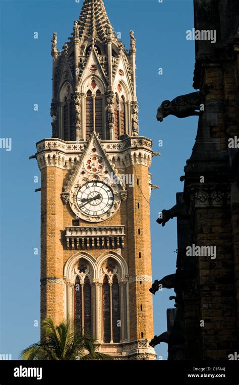
{"label": "dark shadowed stone building with projecting gargoyles along right edge", "polygon": [[[176,293],[166,340],[169,360],[227,360],[239,351],[238,2],[194,0],[194,14],[198,132],[181,177],[184,193],[158,219],[164,225],[177,217],[177,269],[164,279]],[[197,40],[197,31],[208,38]]]}

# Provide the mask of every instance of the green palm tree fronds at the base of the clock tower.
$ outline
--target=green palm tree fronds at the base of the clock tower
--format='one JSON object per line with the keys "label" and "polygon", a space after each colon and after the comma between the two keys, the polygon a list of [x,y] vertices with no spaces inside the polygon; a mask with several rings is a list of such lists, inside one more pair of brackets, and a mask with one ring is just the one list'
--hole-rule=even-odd
{"label": "green palm tree fronds at the base of the clock tower", "polygon": [[106,360],[111,357],[95,351],[91,336],[73,332],[68,321],[54,326],[51,318],[42,322],[45,341],[38,342],[20,353],[22,360]]}

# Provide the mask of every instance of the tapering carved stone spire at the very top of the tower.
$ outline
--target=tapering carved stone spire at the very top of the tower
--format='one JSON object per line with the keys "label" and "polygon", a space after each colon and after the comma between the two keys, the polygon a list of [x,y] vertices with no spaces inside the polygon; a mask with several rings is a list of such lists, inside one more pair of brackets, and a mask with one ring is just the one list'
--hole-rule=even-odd
{"label": "tapering carved stone spire at the very top of the tower", "polygon": [[98,38],[102,42],[106,42],[110,31],[112,39],[118,45],[118,41],[112,33],[113,28],[110,24],[102,0],[85,0],[78,24],[80,39],[84,34],[89,37]]}

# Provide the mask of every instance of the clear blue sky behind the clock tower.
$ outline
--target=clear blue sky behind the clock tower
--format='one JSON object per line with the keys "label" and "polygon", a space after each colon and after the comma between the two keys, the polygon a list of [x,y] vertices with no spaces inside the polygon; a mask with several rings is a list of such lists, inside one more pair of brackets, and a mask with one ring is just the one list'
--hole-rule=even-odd
{"label": "clear blue sky behind the clock tower", "polygon": [[[155,221],[158,212],[175,204],[183,190],[179,178],[190,157],[197,131],[197,117],[156,120],[161,101],[194,92],[194,42],[186,40],[193,28],[193,0],[105,0],[109,19],[129,48],[129,31],[137,39],[137,94],[140,134],[153,139],[151,167],[151,235],[153,279],[175,272],[176,220],[164,228]],[[1,157],[1,341],[0,354],[19,352],[39,340],[40,329],[40,193],[34,176],[40,173],[35,143],[51,136],[51,56],[53,32],[60,49],[72,32],[83,0],[1,0],[1,138],[12,138],[12,151],[0,149]],[[39,38],[34,39],[34,32]],[[158,75],[158,69],[163,75]],[[38,103],[39,111],[33,111]],[[158,141],[163,140],[163,147]],[[154,331],[166,331],[166,308],[173,290],[154,296]],[[153,337],[153,336],[152,336]],[[167,358],[167,345],[157,354]]]}

